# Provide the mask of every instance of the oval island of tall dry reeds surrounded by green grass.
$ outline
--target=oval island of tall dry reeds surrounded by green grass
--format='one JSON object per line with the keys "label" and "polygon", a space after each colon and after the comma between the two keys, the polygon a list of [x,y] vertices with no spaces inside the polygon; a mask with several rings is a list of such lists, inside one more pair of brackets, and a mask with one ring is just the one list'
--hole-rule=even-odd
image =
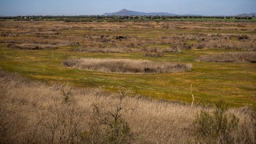
{"label": "oval island of tall dry reeds surrounded by green grass", "polygon": [[192,70],[192,64],[132,59],[68,59],[63,62],[63,65],[76,69],[122,73],[169,73]]}

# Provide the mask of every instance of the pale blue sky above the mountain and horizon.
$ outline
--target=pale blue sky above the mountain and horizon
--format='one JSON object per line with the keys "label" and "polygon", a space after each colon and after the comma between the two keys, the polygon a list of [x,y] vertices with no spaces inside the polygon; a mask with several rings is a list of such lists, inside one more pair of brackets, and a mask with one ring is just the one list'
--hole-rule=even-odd
{"label": "pale blue sky above the mountain and horizon", "polygon": [[0,15],[102,15],[121,9],[172,14],[256,12],[256,0],[0,0]]}

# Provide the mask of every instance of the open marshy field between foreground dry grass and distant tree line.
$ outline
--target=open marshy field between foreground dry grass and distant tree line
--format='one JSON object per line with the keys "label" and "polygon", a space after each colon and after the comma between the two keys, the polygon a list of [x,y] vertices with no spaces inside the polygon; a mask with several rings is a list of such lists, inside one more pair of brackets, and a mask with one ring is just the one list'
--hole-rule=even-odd
{"label": "open marshy field between foreground dry grass and distant tree line", "polygon": [[[0,67],[33,80],[131,91],[130,96],[256,108],[256,66],[195,61],[208,54],[255,53],[253,22],[1,21]],[[255,55],[254,55],[255,56]],[[68,59],[146,59],[192,64],[188,72],[119,74],[65,67]],[[255,59],[255,57],[252,57]]]}

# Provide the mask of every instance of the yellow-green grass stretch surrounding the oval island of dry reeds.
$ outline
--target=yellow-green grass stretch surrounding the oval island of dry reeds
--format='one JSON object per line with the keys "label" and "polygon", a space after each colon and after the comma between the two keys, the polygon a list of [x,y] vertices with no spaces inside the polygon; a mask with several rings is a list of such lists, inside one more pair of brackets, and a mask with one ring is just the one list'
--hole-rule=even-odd
{"label": "yellow-green grass stretch surrounding the oval island of dry reeds", "polygon": [[[213,49],[189,49],[182,53],[164,57],[148,57],[153,61],[190,62],[191,72],[174,74],[113,74],[77,70],[62,66],[62,61],[79,57],[145,59],[134,53],[70,53],[72,47],[51,50],[20,50],[0,46],[0,67],[19,72],[25,77],[49,83],[65,83],[75,87],[103,88],[117,91],[130,90],[133,95],[190,103],[190,85],[193,84],[195,103],[211,104],[228,101],[230,106],[252,106],[255,108],[256,67],[255,64],[228,64],[195,62],[201,54],[218,53]],[[224,51],[224,50],[222,50]]]}

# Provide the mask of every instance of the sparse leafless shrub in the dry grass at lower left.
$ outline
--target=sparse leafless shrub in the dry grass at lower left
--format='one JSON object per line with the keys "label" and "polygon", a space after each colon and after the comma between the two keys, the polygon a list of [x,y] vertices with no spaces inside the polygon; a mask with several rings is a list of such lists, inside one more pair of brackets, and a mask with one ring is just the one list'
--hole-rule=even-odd
{"label": "sparse leafless shrub in the dry grass at lower left", "polygon": [[45,111],[37,111],[30,143],[80,143],[84,130],[82,114],[86,112],[80,111],[74,100],[57,99]]}

